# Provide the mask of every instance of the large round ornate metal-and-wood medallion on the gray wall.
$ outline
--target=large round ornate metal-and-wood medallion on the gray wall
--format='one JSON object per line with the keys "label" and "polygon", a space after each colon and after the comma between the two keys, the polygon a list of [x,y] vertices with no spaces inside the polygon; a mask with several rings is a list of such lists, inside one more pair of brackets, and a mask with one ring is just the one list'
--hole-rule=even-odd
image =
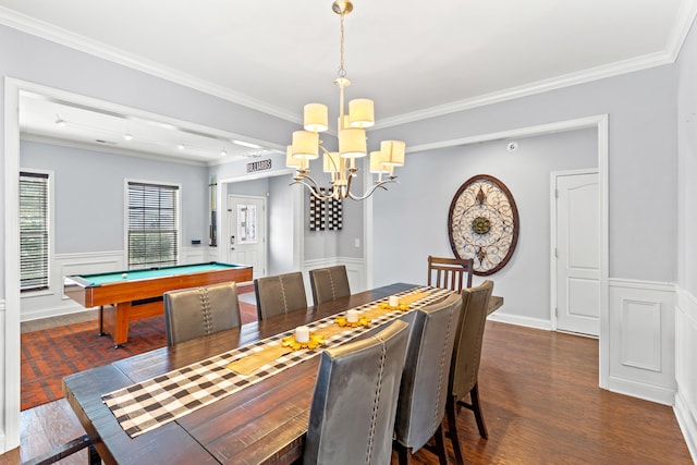
{"label": "large round ornate metal-and-wood medallion on the gray wall", "polygon": [[518,241],[518,210],[509,188],[487,174],[468,179],[450,204],[448,235],[456,257],[474,258],[475,274],[503,268]]}

